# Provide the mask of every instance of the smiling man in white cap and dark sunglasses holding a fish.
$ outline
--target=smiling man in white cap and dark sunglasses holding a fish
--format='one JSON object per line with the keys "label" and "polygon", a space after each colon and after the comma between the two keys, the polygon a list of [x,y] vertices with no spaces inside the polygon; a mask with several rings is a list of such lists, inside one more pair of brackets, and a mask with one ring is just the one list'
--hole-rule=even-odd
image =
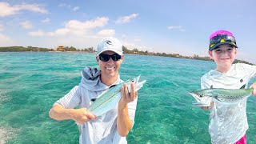
{"label": "smiling man in white cap and dark sunglasses holding a fish", "polygon": [[[50,118],[73,119],[79,124],[80,143],[127,143],[126,135],[134,125],[138,100],[134,82],[130,84],[130,93],[126,84],[122,86],[122,98],[116,108],[106,114],[97,118],[86,109],[100,94],[122,82],[118,70],[123,58],[122,43],[116,38],[103,38],[98,43],[96,55],[100,70],[90,67],[83,69],[79,86],[74,86],[50,110]],[[75,106],[80,108],[74,109]]]}

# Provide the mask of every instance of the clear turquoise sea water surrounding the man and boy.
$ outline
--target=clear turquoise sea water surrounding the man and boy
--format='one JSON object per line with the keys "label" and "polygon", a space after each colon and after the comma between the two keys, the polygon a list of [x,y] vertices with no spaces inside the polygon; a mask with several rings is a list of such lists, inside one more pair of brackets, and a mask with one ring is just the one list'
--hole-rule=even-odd
{"label": "clear turquoise sea water surrounding the man and boy", "polygon": [[[78,143],[71,120],[48,117],[53,103],[80,82],[80,70],[98,66],[95,54],[0,53],[0,143]],[[209,112],[192,106],[190,90],[214,62],[126,54],[123,80],[141,74],[129,143],[210,143]],[[254,79],[256,81],[256,79]],[[256,98],[247,101],[248,143],[256,143]]]}

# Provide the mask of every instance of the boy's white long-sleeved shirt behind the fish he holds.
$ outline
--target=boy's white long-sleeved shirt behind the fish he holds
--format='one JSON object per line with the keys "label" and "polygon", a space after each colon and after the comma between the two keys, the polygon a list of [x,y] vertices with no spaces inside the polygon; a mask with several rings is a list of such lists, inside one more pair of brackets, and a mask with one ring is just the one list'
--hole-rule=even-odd
{"label": "boy's white long-sleeved shirt behind the fish he holds", "polygon": [[[225,74],[210,70],[201,78],[201,88],[239,89],[256,76],[256,66],[234,64]],[[210,108],[209,132],[212,143],[237,142],[248,129],[246,117],[246,98],[238,102],[219,102],[212,99],[214,106]],[[210,102],[207,102],[210,103]]]}

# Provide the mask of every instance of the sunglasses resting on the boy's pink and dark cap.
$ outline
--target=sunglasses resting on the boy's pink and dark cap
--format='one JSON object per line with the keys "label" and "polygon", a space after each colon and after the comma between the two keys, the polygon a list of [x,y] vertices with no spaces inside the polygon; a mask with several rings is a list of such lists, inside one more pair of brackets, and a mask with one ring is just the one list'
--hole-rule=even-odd
{"label": "sunglasses resting on the boy's pink and dark cap", "polygon": [[236,45],[235,38],[231,35],[217,35],[213,38],[210,38],[210,47],[213,47],[219,42],[233,42]]}

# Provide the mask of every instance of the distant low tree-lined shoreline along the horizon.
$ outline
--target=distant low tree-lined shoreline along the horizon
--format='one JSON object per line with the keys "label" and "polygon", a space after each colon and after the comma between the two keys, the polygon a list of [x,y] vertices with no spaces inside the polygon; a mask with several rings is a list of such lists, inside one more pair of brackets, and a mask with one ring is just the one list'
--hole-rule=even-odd
{"label": "distant low tree-lined shoreline along the horizon", "polygon": [[[142,51],[138,49],[128,50],[125,46],[122,47],[122,50],[124,54],[153,55],[153,56],[162,56],[162,57],[170,57],[170,58],[186,58],[186,59],[197,59],[197,60],[214,62],[212,59],[210,59],[210,57],[199,57],[197,54],[194,54],[194,56],[191,57],[191,56],[182,56],[180,54],[154,53],[154,52],[149,52],[148,50],[146,51]],[[79,50],[74,48],[73,46],[62,47],[61,49],[58,49],[58,48],[48,49],[48,48],[40,48],[40,47],[32,47],[32,46],[28,46],[27,48],[23,46],[6,46],[6,47],[0,47],[0,52],[96,53],[93,47]],[[235,59],[234,63],[246,63],[249,65],[255,65],[253,63],[238,60],[238,59]]]}

